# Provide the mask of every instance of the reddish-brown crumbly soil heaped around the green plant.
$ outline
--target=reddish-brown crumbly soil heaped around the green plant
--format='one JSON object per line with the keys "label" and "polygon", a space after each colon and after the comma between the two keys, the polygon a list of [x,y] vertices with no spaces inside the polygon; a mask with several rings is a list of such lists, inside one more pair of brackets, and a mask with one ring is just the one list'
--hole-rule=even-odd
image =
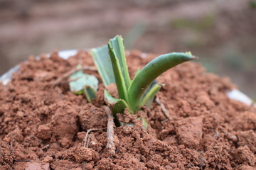
{"label": "reddish-brown crumbly soil heaped around the green plant", "polygon": [[[129,72],[155,55],[127,54]],[[165,84],[157,97],[170,119],[154,102],[137,115],[118,115],[112,156],[106,149],[107,115],[103,86],[93,104],[54,81],[78,61],[92,66],[79,52],[69,60],[57,53],[30,57],[6,86],[0,85],[0,169],[255,169],[256,110],[226,96],[233,84],[187,62],[159,77]],[[99,75],[94,71],[86,71]],[[138,116],[149,122],[146,132]],[[83,147],[90,129],[88,147]]]}

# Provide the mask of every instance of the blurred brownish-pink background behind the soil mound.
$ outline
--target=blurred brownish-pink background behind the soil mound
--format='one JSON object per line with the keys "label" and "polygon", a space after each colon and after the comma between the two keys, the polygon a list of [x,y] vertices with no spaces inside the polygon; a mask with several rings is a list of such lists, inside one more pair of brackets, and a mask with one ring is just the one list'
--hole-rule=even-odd
{"label": "blurred brownish-pink background behind the soil mound", "polygon": [[0,0],[0,74],[53,50],[97,47],[185,52],[256,98],[255,0]]}

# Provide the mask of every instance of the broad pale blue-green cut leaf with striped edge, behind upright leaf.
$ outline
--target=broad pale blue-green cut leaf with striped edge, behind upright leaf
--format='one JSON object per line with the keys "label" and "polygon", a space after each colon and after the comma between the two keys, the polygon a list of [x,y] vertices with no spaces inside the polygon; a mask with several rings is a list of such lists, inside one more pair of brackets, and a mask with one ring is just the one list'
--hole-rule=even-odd
{"label": "broad pale blue-green cut leaf with striped edge, behind upright leaf", "polygon": [[93,48],[91,50],[91,54],[93,61],[97,67],[97,71],[102,78],[103,84],[105,86],[108,86],[112,83],[115,84],[114,72],[112,69],[112,63],[107,45]]}

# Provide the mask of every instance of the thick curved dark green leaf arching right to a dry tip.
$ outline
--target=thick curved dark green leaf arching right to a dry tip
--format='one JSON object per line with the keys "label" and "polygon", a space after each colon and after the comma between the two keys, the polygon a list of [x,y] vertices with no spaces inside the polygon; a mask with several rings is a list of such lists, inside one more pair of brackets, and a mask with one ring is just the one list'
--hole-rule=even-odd
{"label": "thick curved dark green leaf arching right to a dry tip", "polygon": [[129,86],[129,105],[132,111],[139,111],[142,96],[154,79],[166,72],[166,70],[171,69],[171,67],[195,58],[196,57],[193,57],[190,52],[172,52],[166,55],[160,55],[146,64],[146,66],[136,74]]}

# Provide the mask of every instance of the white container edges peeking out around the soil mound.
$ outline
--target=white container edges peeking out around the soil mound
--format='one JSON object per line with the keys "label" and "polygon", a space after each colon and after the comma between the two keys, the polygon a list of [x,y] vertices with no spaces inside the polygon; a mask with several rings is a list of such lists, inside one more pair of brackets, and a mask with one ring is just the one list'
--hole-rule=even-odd
{"label": "white container edges peeking out around the soil mound", "polygon": [[[73,55],[76,55],[78,53],[78,50],[63,50],[58,52],[58,55],[62,57],[64,60],[67,60],[69,57],[72,57]],[[143,58],[145,58],[146,54],[143,53]],[[18,72],[19,65],[16,65],[15,67],[9,69],[8,72],[5,74],[2,74],[0,77],[0,82],[4,85],[6,85],[9,81],[11,81],[12,74],[14,72]],[[227,96],[233,100],[240,101],[242,103],[247,104],[248,106],[251,106],[253,104],[253,101],[251,98],[243,94],[238,89],[233,89],[231,91],[227,91]]]}

